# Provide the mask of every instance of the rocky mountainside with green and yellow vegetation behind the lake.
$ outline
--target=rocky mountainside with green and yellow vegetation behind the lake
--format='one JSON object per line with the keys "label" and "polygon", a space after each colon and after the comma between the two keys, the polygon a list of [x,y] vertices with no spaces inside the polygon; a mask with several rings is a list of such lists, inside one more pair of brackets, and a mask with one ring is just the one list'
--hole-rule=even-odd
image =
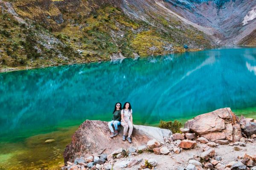
{"label": "rocky mountainside with green and yellow vegetation behind the lake", "polygon": [[255,6],[254,0],[0,0],[0,70],[255,45]]}

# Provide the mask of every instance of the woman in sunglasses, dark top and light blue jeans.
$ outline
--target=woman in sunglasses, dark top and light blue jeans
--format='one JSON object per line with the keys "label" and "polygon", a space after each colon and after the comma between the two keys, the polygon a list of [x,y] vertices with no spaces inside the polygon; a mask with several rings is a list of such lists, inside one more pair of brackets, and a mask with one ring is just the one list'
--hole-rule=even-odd
{"label": "woman in sunglasses, dark top and light blue jeans", "polygon": [[[108,127],[111,131],[111,138],[113,138],[114,136],[116,136],[118,134],[118,131],[117,131],[117,126],[118,125],[121,125],[121,109],[122,108],[122,104],[121,103],[116,103],[115,105],[115,109],[113,111],[113,117],[112,117],[112,120],[111,122],[108,122]],[[113,130],[113,126],[115,127],[115,131]]]}

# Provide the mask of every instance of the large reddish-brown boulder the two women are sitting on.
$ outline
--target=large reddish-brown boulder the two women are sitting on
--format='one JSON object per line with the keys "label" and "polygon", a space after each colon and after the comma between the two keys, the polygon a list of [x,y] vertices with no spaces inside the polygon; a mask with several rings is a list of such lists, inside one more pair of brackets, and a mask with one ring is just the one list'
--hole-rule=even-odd
{"label": "large reddish-brown boulder the two women are sitting on", "polygon": [[[66,146],[64,151],[64,163],[73,162],[76,158],[84,156],[87,158],[92,154],[110,154],[119,148],[129,148],[131,144],[122,142],[122,126],[118,129],[117,136],[110,138],[108,122],[99,120],[86,120],[72,136],[72,142]],[[158,127],[134,125],[132,133],[132,144],[134,147],[145,145],[151,139],[164,142],[163,137],[169,138],[170,130]]]}

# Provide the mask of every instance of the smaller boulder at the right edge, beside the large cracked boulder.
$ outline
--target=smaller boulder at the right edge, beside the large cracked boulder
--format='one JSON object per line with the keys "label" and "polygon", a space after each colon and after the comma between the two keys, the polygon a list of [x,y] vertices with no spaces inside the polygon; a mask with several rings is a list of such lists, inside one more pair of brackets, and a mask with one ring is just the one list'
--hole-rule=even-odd
{"label": "smaller boulder at the right edge, beside the large cracked boulder", "polygon": [[250,137],[253,134],[256,134],[256,123],[254,122],[254,119],[245,118],[244,116],[241,116],[240,125],[243,133],[246,136]]}

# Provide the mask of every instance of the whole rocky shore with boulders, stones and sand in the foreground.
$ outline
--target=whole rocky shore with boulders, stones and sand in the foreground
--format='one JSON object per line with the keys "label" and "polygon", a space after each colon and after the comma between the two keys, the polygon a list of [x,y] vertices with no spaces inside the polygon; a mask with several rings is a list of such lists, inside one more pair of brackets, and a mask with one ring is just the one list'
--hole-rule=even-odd
{"label": "whole rocky shore with boulders, stones and sand in the foreground", "polygon": [[107,122],[87,120],[67,145],[61,170],[256,170],[256,120],[221,108],[180,130],[134,125],[129,144],[121,133],[109,138]]}

